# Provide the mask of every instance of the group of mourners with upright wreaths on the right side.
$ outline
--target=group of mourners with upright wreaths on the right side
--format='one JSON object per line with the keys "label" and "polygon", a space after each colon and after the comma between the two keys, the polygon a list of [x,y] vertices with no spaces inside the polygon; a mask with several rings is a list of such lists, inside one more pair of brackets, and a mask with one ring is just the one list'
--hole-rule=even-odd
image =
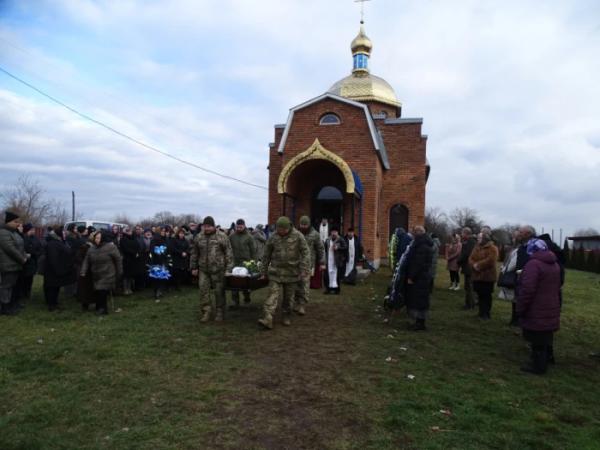
{"label": "group of mourners with upright wreaths on the right side", "polygon": [[[530,343],[531,359],[522,370],[535,374],[554,364],[554,333],[559,329],[565,255],[548,234],[536,236],[531,226],[522,226],[512,236],[500,270],[499,250],[492,230],[484,226],[475,235],[465,227],[445,247],[450,290],[460,290],[463,277],[464,310],[477,307],[477,315],[491,318],[494,289],[498,297],[511,302],[509,325],[519,326]],[[392,309],[406,306],[415,319],[414,330],[425,330],[430,294],[436,276],[441,243],[423,227],[412,233],[399,228],[390,242],[390,263],[395,267],[387,298]]]}

